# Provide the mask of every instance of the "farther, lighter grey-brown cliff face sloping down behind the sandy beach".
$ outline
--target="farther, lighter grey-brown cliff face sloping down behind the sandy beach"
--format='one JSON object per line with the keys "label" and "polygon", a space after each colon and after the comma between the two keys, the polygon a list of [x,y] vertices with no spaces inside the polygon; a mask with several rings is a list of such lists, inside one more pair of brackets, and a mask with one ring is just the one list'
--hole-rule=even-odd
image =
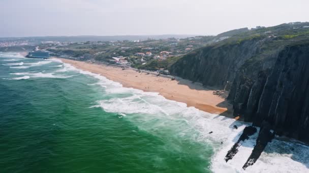
{"label": "farther, lighter grey-brown cliff face sloping down behind the sandy beach", "polygon": [[236,71],[260,52],[265,39],[252,39],[237,44],[208,46],[195,50],[171,66],[171,73],[207,86],[229,88]]}

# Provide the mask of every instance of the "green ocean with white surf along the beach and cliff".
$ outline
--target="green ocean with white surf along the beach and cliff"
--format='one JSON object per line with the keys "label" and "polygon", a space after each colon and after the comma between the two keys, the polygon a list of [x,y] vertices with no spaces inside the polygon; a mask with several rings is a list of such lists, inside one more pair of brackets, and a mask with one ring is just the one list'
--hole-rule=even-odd
{"label": "green ocean with white surf along the beach and cliff", "polygon": [[0,53],[0,106],[0,172],[309,172],[309,147],[280,138],[244,171],[257,133],[226,163],[251,123],[56,59]]}

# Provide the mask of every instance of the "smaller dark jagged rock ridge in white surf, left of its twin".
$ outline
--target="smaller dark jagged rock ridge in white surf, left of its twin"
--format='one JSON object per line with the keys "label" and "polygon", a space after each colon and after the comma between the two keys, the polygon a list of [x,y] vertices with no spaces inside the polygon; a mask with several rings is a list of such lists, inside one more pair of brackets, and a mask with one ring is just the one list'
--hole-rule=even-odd
{"label": "smaller dark jagged rock ridge in white surf, left of its twin", "polygon": [[228,162],[230,159],[232,159],[235,156],[235,154],[238,152],[238,148],[241,146],[241,142],[249,139],[249,137],[255,134],[256,132],[257,132],[256,127],[246,126],[243,129],[243,132],[241,136],[239,137],[238,141],[233,145],[233,147],[226,154],[225,161]]}

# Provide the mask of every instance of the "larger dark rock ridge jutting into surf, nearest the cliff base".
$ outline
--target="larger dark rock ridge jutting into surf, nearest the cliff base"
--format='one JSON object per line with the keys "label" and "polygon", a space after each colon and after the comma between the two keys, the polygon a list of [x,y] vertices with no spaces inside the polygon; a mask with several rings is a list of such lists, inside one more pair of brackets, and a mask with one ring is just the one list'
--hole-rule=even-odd
{"label": "larger dark rock ridge jutting into surf, nearest the cliff base", "polygon": [[253,151],[248,160],[242,166],[243,169],[253,165],[258,160],[268,142],[271,142],[271,140],[274,138],[274,135],[275,133],[271,132],[271,125],[267,121],[263,121],[259,136],[257,138],[256,146],[253,148]]}

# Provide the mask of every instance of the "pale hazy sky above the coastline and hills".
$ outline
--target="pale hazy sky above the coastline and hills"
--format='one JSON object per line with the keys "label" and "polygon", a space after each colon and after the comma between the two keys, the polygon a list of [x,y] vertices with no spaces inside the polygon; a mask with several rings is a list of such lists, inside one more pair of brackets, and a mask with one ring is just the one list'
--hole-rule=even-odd
{"label": "pale hazy sky above the coastline and hills", "polygon": [[309,0],[0,0],[0,37],[218,34],[309,21]]}

